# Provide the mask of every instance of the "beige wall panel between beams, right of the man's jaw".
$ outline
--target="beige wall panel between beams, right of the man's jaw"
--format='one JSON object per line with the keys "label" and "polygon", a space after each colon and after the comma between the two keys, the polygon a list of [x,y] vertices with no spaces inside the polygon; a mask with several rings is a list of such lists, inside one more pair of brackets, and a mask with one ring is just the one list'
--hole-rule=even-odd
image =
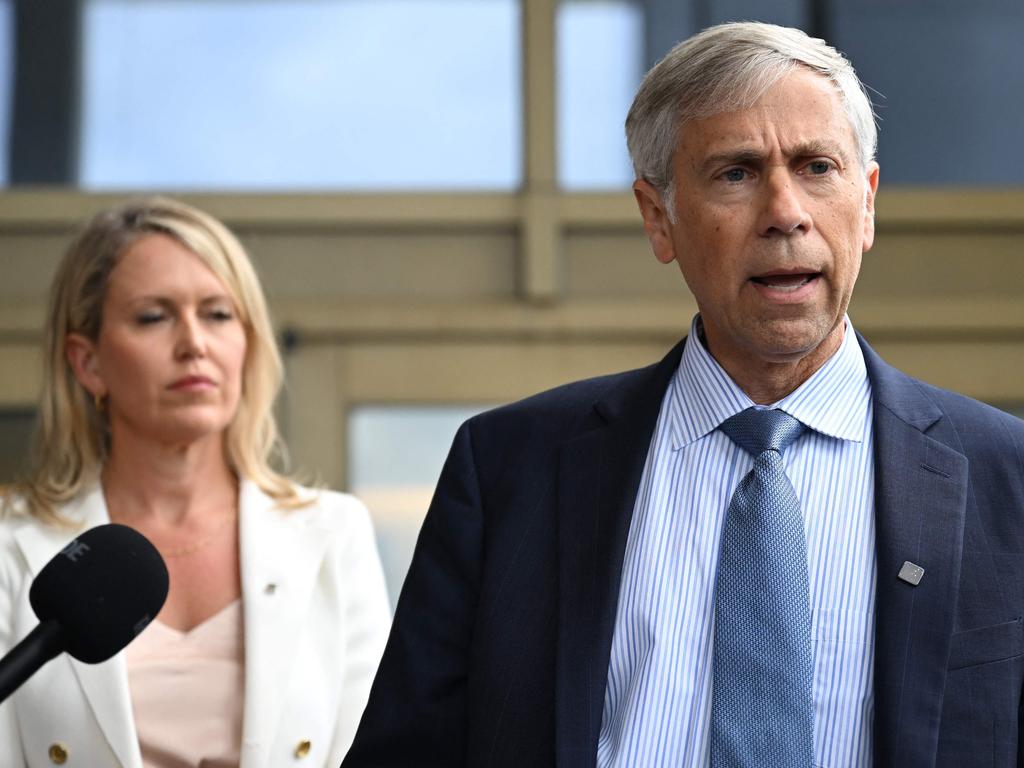
{"label": "beige wall panel between beams, right of the man's jaw", "polygon": [[882,231],[857,286],[866,297],[1024,295],[1024,229]]}

